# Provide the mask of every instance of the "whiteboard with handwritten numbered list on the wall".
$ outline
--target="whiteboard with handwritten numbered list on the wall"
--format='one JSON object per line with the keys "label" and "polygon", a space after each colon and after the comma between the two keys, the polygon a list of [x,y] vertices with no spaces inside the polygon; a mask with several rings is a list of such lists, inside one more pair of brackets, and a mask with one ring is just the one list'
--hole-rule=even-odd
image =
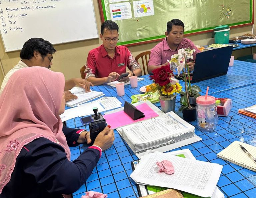
{"label": "whiteboard with handwritten numbered list on the wall", "polygon": [[33,37],[52,44],[99,37],[92,0],[0,0],[0,22],[6,52]]}

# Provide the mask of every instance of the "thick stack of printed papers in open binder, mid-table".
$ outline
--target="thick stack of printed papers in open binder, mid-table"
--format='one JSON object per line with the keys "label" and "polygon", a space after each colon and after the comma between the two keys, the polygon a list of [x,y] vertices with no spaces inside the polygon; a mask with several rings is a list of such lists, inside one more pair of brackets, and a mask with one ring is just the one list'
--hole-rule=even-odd
{"label": "thick stack of printed papers in open binder, mid-table", "polygon": [[[124,126],[118,131],[135,154],[196,136],[195,127],[172,111],[150,120]],[[200,138],[193,139],[193,142],[198,140]],[[189,143],[191,142],[186,142],[185,145]],[[172,148],[165,149],[163,152]]]}

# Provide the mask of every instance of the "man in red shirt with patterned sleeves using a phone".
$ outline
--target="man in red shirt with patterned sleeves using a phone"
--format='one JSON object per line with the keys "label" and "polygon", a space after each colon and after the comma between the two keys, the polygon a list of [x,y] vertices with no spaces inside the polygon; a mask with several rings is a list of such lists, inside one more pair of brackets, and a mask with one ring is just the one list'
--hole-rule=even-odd
{"label": "man in red shirt with patterned sleeves using a phone", "polygon": [[100,38],[103,45],[91,50],[87,57],[85,78],[93,85],[102,85],[118,79],[120,74],[126,72],[126,66],[131,70],[130,76],[141,76],[140,65],[135,61],[131,52],[125,46],[116,46],[118,38],[118,25],[111,21],[105,21],[101,25]]}

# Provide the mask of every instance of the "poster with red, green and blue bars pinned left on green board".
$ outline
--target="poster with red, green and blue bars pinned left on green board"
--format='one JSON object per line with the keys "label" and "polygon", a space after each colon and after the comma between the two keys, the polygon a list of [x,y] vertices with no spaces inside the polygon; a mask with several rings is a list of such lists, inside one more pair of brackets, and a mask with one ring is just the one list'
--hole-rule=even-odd
{"label": "poster with red, green and blue bars pinned left on green board", "polygon": [[110,4],[109,8],[112,21],[132,18],[130,2]]}

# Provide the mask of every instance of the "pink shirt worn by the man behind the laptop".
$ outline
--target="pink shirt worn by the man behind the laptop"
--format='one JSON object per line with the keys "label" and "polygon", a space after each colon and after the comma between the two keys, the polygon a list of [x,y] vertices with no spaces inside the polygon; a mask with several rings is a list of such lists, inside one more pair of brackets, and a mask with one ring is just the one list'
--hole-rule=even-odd
{"label": "pink shirt worn by the man behind the laptop", "polygon": [[167,62],[167,60],[171,59],[171,56],[178,53],[179,49],[182,48],[190,48],[195,49],[196,51],[193,53],[193,59],[189,59],[189,61],[194,61],[196,59],[196,54],[200,53],[200,50],[194,45],[194,43],[187,39],[183,38],[180,44],[178,45],[177,50],[171,50],[166,38],[161,42],[158,43],[152,50],[149,58],[148,65],[162,65]]}

